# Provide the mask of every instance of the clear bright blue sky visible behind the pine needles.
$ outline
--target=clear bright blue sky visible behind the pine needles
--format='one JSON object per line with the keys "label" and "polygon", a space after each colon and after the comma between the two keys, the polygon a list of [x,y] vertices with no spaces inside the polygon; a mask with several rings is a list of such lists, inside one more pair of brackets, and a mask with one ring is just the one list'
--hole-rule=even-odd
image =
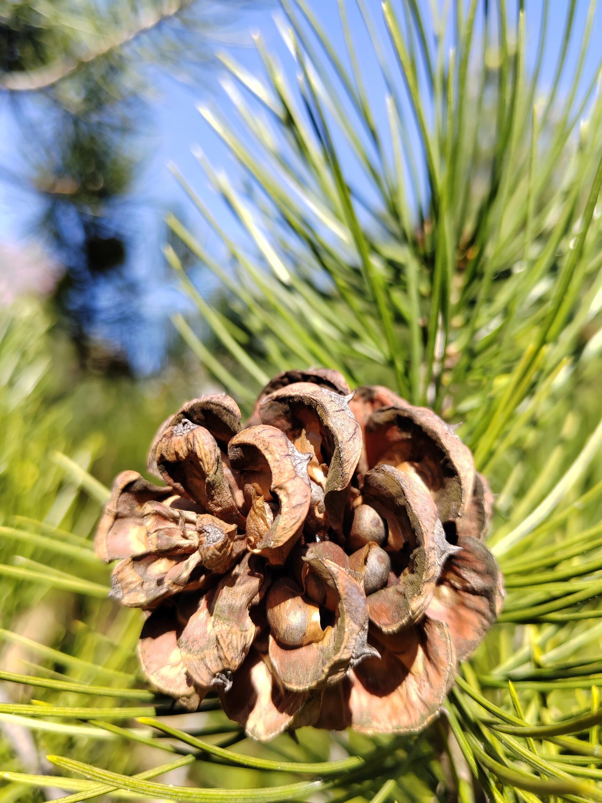
{"label": "clear bright blue sky visible behind the pine needles", "polygon": [[[380,0],[366,0],[368,7],[372,10],[372,15],[381,23]],[[343,45],[343,37],[340,31],[336,0],[309,0],[309,4],[318,15],[323,28],[331,36],[336,46]],[[580,32],[583,30],[584,21],[588,13],[589,0],[578,0],[576,8],[575,31],[571,41],[567,65],[561,81],[561,91],[566,90],[568,78],[576,63],[580,53]],[[398,3],[399,5],[399,3]],[[424,6],[435,6],[441,10],[443,2],[434,0],[431,4],[424,2]],[[515,18],[516,3],[506,0],[510,20]],[[537,36],[539,33],[539,19],[541,16],[541,0],[526,0],[526,19],[527,19],[527,40],[526,53],[527,64],[533,63],[537,47]],[[545,89],[552,79],[555,68],[560,43],[563,35],[563,26],[567,15],[568,0],[551,0],[550,18],[548,25],[547,47],[543,60],[543,71],[540,85]],[[376,59],[368,47],[366,35],[361,26],[359,14],[356,14],[355,3],[348,0],[348,8],[352,35],[356,39],[357,52],[360,55],[361,67],[366,78],[372,98],[375,100],[374,112],[377,121],[384,120],[384,102],[380,77],[378,75]],[[295,67],[292,59],[287,54],[286,47],[274,24],[274,14],[281,14],[276,5],[259,3],[253,8],[247,9],[239,15],[236,30],[239,38],[246,39],[250,43],[249,32],[259,31],[262,39],[271,51],[275,51],[282,60],[287,74],[291,79],[295,79]],[[385,37],[386,39],[386,37]],[[600,9],[596,10],[592,43],[588,59],[584,67],[584,75],[592,75],[597,67],[597,59],[600,59],[600,47],[596,43],[602,40],[602,14]],[[251,71],[260,72],[259,60],[252,47],[237,47],[235,50],[236,58]],[[393,65],[395,67],[395,65]],[[150,104],[150,125],[148,131],[144,132],[142,139],[143,149],[141,152],[139,175],[133,192],[132,200],[136,203],[136,231],[134,232],[135,247],[130,258],[131,268],[134,275],[149,277],[148,299],[144,300],[144,305],[152,307],[158,304],[165,308],[167,314],[174,305],[178,305],[176,296],[171,292],[166,292],[161,283],[153,283],[153,276],[161,272],[162,256],[161,244],[164,237],[164,228],[161,226],[161,218],[165,210],[173,209],[177,214],[185,218],[190,228],[192,228],[201,241],[205,241],[209,236],[203,228],[201,219],[195,214],[192,205],[185,198],[177,182],[173,179],[167,169],[169,162],[175,162],[177,167],[185,174],[187,180],[193,185],[205,200],[212,205],[212,210],[218,215],[220,223],[233,236],[239,236],[238,229],[227,210],[220,206],[217,200],[214,202],[214,195],[207,187],[207,182],[203,177],[200,166],[192,150],[200,145],[205,155],[209,158],[214,167],[223,166],[230,175],[236,176],[238,169],[230,157],[226,148],[219,141],[218,137],[210,130],[209,126],[201,118],[197,111],[197,104],[214,104],[222,113],[229,113],[230,102],[222,92],[219,81],[224,77],[224,71],[219,67],[209,75],[206,86],[189,85],[180,82],[173,77],[165,75],[161,70],[153,70],[153,101]],[[230,116],[230,120],[234,117]],[[238,130],[242,130],[242,123],[234,123]],[[19,161],[23,156],[22,143],[18,141],[18,127],[14,124],[14,119],[10,115],[7,104],[0,104],[0,165],[10,169],[18,169]],[[14,183],[0,180],[0,244],[19,243],[26,238],[35,236],[35,231],[31,230],[31,221],[35,214],[35,197],[24,188],[15,186]],[[140,365],[144,372],[152,370],[153,353],[155,349],[161,349],[161,344],[153,344],[153,331],[150,332],[150,351],[144,359],[147,361]],[[158,336],[158,332],[155,332]],[[148,349],[147,349],[148,351]]]}

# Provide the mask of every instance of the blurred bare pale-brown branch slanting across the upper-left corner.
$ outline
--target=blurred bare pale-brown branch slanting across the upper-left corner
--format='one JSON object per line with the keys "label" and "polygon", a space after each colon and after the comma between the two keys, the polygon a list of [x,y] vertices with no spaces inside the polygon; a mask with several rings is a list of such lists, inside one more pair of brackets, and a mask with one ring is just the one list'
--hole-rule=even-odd
{"label": "blurred bare pale-brown branch slanting across the upper-left corner", "polygon": [[191,6],[194,0],[166,0],[158,9],[148,10],[136,18],[136,24],[125,31],[115,31],[112,35],[105,36],[100,40],[98,47],[79,55],[77,58],[65,59],[63,61],[48,64],[45,67],[38,67],[35,70],[23,71],[18,73],[7,73],[0,76],[0,89],[7,92],[37,92],[40,89],[47,89],[53,86],[67,75],[75,72],[95,59],[100,59],[112,51],[132,42],[133,39],[141,34],[152,31],[159,23],[174,17],[185,7]]}

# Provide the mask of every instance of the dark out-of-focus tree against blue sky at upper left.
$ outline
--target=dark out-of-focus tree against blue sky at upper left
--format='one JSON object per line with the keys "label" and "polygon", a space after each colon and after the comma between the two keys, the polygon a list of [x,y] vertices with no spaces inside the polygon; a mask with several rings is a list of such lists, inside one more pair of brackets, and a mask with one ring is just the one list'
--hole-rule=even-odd
{"label": "dark out-of-focus tree against blue sky at upper left", "polygon": [[144,236],[138,218],[147,199],[136,192],[136,178],[149,156],[148,101],[158,69],[198,87],[212,38],[245,5],[0,3],[0,104],[20,151],[0,164],[0,180],[34,195],[29,226],[59,268],[52,299],[83,367],[148,373],[175,348],[167,327],[157,340],[154,317],[155,357],[140,355],[148,286],[170,281],[152,258],[144,273],[132,270],[136,238]]}

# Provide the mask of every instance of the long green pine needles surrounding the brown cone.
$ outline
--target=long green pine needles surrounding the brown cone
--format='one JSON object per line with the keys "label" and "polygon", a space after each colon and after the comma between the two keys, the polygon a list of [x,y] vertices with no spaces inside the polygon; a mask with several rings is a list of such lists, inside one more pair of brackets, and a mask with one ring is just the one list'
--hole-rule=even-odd
{"label": "long green pine needles surrounding the brown cone", "polygon": [[[458,424],[496,494],[498,625],[420,736],[302,729],[261,746],[214,699],[173,715],[144,686],[141,617],[105,599],[91,539],[100,479],[142,465],[184,389],[105,391],[87,420],[97,392],[56,397],[60,355],[39,314],[15,308],[0,340],[0,803],[57,788],[63,801],[602,801],[602,94],[600,67],[584,71],[596,3],[584,30],[569,3],[545,92],[552,3],[532,69],[528,4],[514,22],[503,0],[484,19],[477,0],[448,3],[433,26],[425,4],[385,0],[382,41],[374,6],[357,5],[385,126],[344,0],[346,55],[305,0],[283,0],[296,85],[260,38],[261,75],[222,56],[232,108],[201,114],[238,168],[198,156],[240,237],[174,168],[221,249],[168,218],[165,255],[198,312],[173,322],[244,411],[274,373],[324,365]],[[191,255],[217,276],[215,299],[195,289]]]}

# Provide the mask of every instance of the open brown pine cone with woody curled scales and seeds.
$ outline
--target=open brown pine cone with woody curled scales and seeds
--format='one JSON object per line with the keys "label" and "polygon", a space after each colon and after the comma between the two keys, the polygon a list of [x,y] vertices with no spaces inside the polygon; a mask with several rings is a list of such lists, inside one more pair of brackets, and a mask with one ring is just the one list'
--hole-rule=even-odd
{"label": "open brown pine cone with woody curled scales and seeds", "polygon": [[332,370],[289,371],[245,429],[185,404],[149,471],[115,481],[96,536],[142,608],[140,662],[194,710],[217,689],[259,740],[313,724],[414,732],[493,624],[502,576],[470,450],[432,410]]}

